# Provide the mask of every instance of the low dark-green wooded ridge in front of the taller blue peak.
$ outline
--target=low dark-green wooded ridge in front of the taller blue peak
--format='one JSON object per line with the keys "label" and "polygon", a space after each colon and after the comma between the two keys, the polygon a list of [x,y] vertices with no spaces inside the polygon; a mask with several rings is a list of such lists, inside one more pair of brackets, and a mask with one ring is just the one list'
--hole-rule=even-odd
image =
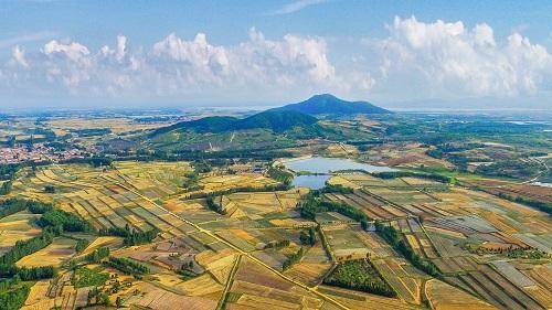
{"label": "low dark-green wooded ridge in front of the taller blue peak", "polygon": [[267,110],[242,119],[229,116],[211,116],[191,121],[181,121],[159,128],[152,132],[152,136],[174,130],[223,132],[246,129],[269,129],[274,132],[283,132],[294,127],[310,126],[317,121],[315,117],[298,111]]}

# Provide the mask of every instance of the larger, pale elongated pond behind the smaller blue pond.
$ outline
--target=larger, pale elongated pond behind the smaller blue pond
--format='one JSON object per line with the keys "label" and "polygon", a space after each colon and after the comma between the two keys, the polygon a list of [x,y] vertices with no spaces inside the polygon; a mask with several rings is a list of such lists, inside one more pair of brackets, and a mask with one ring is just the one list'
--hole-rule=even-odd
{"label": "larger, pale elongated pond behind the smaller blue pond", "polygon": [[288,169],[300,172],[328,174],[339,170],[363,170],[365,172],[395,171],[389,167],[372,165],[357,162],[352,159],[311,157],[305,159],[290,160],[284,163]]}

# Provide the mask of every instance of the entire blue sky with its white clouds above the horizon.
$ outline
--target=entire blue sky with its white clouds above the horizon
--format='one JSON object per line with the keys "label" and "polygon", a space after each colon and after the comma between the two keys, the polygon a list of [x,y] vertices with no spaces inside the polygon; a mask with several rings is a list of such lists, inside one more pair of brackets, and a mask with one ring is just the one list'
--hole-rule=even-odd
{"label": "entire blue sky with its white clouds above the horizon", "polygon": [[3,0],[0,107],[549,108],[550,20],[550,1]]}

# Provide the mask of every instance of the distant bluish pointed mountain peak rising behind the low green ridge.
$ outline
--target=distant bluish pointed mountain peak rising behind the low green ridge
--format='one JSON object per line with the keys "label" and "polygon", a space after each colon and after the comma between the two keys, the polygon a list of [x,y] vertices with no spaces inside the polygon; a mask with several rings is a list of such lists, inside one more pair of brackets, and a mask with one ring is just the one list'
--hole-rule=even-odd
{"label": "distant bluish pointed mountain peak rising behind the low green ridge", "polygon": [[330,94],[315,95],[305,101],[291,104],[279,108],[276,111],[299,111],[308,115],[332,114],[390,114],[391,111],[374,106],[367,101],[347,101]]}

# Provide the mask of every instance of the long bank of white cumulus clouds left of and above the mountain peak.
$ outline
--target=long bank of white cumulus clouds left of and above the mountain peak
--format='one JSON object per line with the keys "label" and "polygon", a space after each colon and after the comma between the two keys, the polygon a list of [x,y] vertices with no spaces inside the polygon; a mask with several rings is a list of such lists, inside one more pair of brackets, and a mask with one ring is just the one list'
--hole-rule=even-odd
{"label": "long bank of white cumulus clouds left of and above the mountain peak", "polygon": [[250,30],[248,40],[229,46],[210,43],[204,33],[193,40],[171,33],[149,49],[130,49],[119,35],[115,46],[96,52],[78,42],[52,40],[33,53],[15,46],[2,70],[0,90],[192,98],[205,93],[348,92],[373,85],[368,73],[339,74],[327,53],[323,39],[287,34],[268,40],[256,29]]}

